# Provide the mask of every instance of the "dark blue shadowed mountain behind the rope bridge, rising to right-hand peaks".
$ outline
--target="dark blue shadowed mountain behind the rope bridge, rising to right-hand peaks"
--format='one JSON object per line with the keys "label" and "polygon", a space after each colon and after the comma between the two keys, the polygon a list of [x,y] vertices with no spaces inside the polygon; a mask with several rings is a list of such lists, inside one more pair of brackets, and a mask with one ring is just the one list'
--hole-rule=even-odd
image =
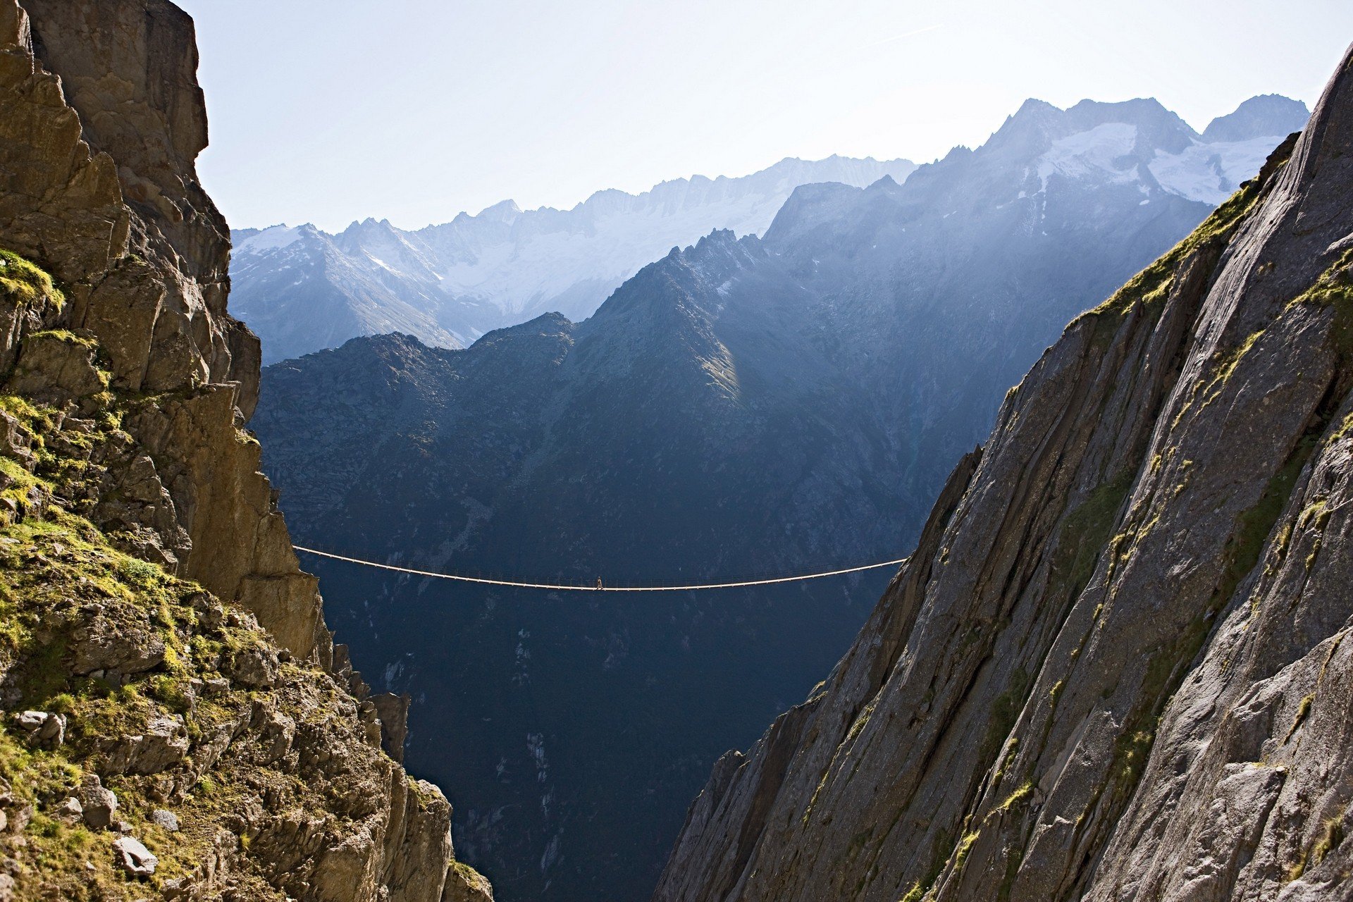
{"label": "dark blue shadowed mountain behind the rope bridge, rising to right-hand peaks", "polygon": [[[658,581],[898,557],[1063,325],[1258,172],[1285,134],[1257,133],[1293,124],[1260,112],[1204,142],[1154,100],[1028,101],[901,184],[800,187],[763,238],[672,250],[583,323],[269,366],[265,465],[306,544],[421,567]],[[609,603],[314,565],[377,687],[414,696],[409,760],[459,778],[459,848],[505,902],[643,898],[713,757],[804,698],[875,596]]]}

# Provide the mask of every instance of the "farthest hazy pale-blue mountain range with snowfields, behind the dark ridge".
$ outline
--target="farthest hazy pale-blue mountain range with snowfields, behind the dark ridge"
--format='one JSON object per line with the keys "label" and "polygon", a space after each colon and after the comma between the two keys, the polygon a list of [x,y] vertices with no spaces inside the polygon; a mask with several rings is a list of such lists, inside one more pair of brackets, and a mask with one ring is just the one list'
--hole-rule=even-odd
{"label": "farthest hazy pale-blue mountain range with snowfields, behind the dark ridge", "polygon": [[233,233],[231,304],[262,339],[264,361],[402,331],[461,348],[547,311],[586,319],[640,266],[712,229],[766,230],[798,185],[902,180],[907,160],[828,157],[739,179],[676,179],[629,195],[599,191],[572,210],[505,200],[417,231],[387,220],[338,235],[314,226]]}

